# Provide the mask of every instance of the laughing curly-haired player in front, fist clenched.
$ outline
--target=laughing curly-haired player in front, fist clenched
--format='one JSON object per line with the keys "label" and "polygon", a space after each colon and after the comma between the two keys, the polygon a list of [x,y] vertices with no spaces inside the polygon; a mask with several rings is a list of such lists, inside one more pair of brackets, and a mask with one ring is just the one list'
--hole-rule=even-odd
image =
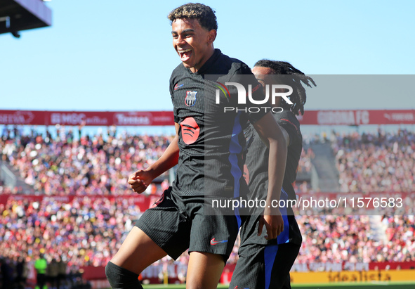
{"label": "laughing curly-haired player in front, fist clenched", "polygon": [[[237,238],[240,216],[210,204],[248,191],[242,176],[243,129],[248,121],[270,147],[269,198],[279,198],[282,188],[286,143],[272,115],[244,108],[224,113],[225,106],[240,104],[237,86],[225,83],[251,84],[246,87],[252,88],[252,99],[263,99],[263,92],[247,65],[214,49],[214,11],[203,4],[185,4],[171,11],[169,20],[173,48],[181,60],[170,79],[176,136],[157,162],[130,176],[129,184],[141,193],[178,164],[176,180],[144,212],[107,264],[112,288],[141,288],[141,271],[166,255],[176,259],[187,248],[186,288],[216,288]],[[264,223],[270,239],[283,230],[278,209],[266,209]]]}

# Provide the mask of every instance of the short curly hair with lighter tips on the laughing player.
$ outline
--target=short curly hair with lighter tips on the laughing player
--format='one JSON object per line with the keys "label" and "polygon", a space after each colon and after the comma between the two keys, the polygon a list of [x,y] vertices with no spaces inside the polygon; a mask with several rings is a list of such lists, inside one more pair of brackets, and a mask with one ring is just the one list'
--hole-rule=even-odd
{"label": "short curly hair with lighter tips on the laughing player", "polygon": [[207,30],[218,30],[218,23],[216,22],[215,11],[209,6],[200,3],[187,3],[169,13],[167,16],[171,23],[176,19],[194,18],[199,20],[200,26]]}

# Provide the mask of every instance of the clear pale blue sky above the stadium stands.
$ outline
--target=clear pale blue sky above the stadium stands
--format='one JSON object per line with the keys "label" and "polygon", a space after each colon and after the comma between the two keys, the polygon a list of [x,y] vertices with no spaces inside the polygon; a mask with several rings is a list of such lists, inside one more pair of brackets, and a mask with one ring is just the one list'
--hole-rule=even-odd
{"label": "clear pale blue sky above the stadium stands", "polygon": [[[185,3],[47,2],[52,27],[0,35],[0,109],[171,110],[169,77],[180,60],[166,15]],[[202,3],[216,10],[215,47],[249,66],[271,58],[308,75],[415,75],[415,1]],[[411,86],[404,95],[391,89],[394,101],[336,98],[320,87],[308,90],[306,108],[415,108]]]}

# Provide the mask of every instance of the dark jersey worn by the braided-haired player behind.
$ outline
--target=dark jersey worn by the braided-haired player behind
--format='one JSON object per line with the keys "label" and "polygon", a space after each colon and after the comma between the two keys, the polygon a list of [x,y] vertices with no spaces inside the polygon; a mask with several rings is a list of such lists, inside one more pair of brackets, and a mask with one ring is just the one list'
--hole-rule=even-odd
{"label": "dark jersey worn by the braided-haired player behind", "polygon": [[[289,144],[286,157],[286,167],[280,200],[296,200],[293,183],[296,181],[298,162],[303,149],[303,136],[300,131],[300,123],[294,113],[284,110],[282,113],[273,113],[280,127],[289,134]],[[249,184],[249,198],[265,200],[268,193],[268,155],[269,149],[263,144],[255,129],[250,125],[244,130],[246,137],[246,167],[244,174]],[[257,236],[258,215],[263,208],[251,210],[252,216],[247,216],[241,228],[241,243],[296,243],[301,245],[301,233],[296,223],[291,207],[280,208],[284,219],[284,231],[275,240],[265,240],[263,236]],[[263,235],[265,234],[263,229]]]}

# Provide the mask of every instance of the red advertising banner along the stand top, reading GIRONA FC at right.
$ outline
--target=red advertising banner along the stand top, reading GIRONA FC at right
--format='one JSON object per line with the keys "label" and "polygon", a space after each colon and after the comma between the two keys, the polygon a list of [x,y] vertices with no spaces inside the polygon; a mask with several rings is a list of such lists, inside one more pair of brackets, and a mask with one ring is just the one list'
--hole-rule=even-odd
{"label": "red advertising banner along the stand top, reading GIRONA FC at right", "polygon": [[[415,124],[415,110],[306,110],[301,124]],[[150,126],[173,125],[171,111],[45,111],[0,110],[0,124]]]}

